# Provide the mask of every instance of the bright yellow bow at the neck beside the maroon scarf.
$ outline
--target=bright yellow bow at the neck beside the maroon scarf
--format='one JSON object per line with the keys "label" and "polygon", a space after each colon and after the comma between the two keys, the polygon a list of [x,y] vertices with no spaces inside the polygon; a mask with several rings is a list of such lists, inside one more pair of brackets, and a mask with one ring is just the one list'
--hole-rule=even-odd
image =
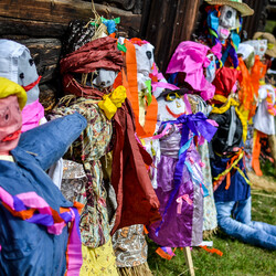
{"label": "bright yellow bow at the neck beside the maroon scarf", "polygon": [[98,102],[98,107],[104,110],[106,117],[110,120],[117,109],[127,97],[126,88],[120,85],[114,92],[103,96],[103,100]]}

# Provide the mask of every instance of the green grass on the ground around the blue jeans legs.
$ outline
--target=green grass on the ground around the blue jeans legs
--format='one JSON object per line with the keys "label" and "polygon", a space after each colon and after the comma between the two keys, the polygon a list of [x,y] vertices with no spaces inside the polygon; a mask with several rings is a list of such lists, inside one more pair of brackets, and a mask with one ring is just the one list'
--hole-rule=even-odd
{"label": "green grass on the ground around the blue jeans legs", "polygon": [[[276,225],[276,192],[253,191],[252,199],[252,219]],[[244,244],[220,230],[212,241],[214,247],[223,252],[223,256],[193,248],[195,275],[276,275],[276,251]],[[189,275],[182,251],[177,250],[176,256],[167,261],[156,254],[157,247],[149,241],[148,263],[153,275]]]}

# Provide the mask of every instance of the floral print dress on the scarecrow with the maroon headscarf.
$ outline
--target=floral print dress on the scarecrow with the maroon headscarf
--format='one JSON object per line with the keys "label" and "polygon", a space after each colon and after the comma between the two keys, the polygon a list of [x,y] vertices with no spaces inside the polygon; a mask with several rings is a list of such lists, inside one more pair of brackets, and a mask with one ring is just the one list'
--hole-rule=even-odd
{"label": "floral print dress on the scarecrow with the maroon headscarf", "polygon": [[[65,99],[68,99],[66,104]],[[110,233],[106,208],[107,193],[99,158],[106,153],[110,142],[112,123],[94,100],[74,96],[65,99],[53,110],[54,117],[77,112],[87,119],[86,129],[65,157],[83,164],[87,181],[85,189],[76,197],[77,201],[85,204],[79,223],[82,242],[86,246],[98,247],[109,241]]]}

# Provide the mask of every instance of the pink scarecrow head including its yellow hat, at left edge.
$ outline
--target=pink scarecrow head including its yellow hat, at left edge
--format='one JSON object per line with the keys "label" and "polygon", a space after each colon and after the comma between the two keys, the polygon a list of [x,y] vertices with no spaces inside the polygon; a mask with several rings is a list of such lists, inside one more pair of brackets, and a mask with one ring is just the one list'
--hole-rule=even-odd
{"label": "pink scarecrow head including its yellow hat, at left edge", "polygon": [[9,155],[18,146],[25,102],[26,94],[20,85],[0,77],[0,155]]}

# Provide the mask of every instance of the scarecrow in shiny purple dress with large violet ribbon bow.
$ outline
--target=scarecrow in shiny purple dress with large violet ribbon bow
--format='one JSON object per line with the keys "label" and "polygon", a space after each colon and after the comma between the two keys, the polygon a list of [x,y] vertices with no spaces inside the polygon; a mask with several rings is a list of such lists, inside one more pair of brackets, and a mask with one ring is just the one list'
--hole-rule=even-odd
{"label": "scarecrow in shiny purple dress with large violet ribbon bow", "polygon": [[216,130],[202,113],[188,115],[183,93],[187,89],[164,89],[157,97],[158,113],[164,119],[158,134],[161,157],[156,189],[162,221],[148,230],[152,241],[169,247],[195,246],[202,242],[205,189],[193,137],[203,136],[210,141]]}

